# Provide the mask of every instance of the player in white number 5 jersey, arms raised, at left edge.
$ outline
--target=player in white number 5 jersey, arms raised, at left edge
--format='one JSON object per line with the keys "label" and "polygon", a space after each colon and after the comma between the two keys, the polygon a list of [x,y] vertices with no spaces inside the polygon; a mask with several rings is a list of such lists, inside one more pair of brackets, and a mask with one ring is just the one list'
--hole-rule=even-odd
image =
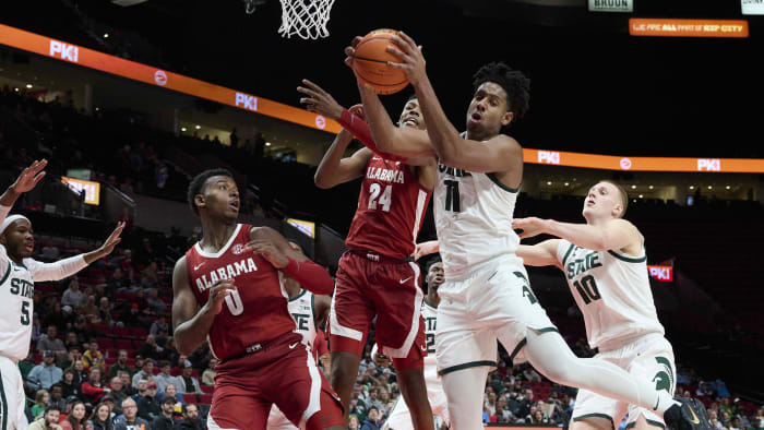
{"label": "player in white number 5 jersey, arms raised, at left edge", "polygon": [[23,215],[8,215],[16,199],[37,186],[45,177],[47,160],[25,168],[0,196],[0,429],[25,430],[28,426],[24,406],[24,383],[17,362],[29,354],[33,297],[36,280],[59,280],[109,254],[119,242],[122,224],[95,251],[56,263],[32,259],[32,223]]}

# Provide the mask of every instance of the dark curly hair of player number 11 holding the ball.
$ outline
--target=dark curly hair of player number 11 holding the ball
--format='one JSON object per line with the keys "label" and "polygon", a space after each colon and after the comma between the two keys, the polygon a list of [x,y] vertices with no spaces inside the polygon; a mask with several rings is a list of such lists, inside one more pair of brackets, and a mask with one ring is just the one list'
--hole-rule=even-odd
{"label": "dark curly hair of player number 11 holding the ball", "polygon": [[502,61],[491,62],[478,69],[473,75],[475,91],[486,82],[493,82],[506,92],[508,110],[513,112],[516,119],[525,116],[530,107],[530,80],[523,72],[512,69]]}

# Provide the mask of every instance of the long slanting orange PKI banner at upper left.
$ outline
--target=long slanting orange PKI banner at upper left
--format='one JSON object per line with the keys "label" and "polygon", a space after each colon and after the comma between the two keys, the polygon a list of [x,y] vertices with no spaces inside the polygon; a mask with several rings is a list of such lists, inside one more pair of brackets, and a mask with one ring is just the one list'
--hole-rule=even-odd
{"label": "long slanting orange PKI banner at upper left", "polygon": [[305,109],[0,24],[0,44],[332,133],[339,124]]}

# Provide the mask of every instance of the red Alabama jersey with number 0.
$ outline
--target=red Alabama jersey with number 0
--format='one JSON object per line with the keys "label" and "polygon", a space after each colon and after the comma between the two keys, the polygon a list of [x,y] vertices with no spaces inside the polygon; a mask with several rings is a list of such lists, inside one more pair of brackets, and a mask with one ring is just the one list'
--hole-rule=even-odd
{"label": "red Alabama jersey with number 0", "polygon": [[236,278],[237,290],[226,297],[207,335],[213,355],[220,360],[295,330],[278,271],[259,254],[243,252],[251,229],[247,224],[237,225],[228,243],[215,254],[202,251],[199,242],[186,252],[191,289],[200,307],[217,280]]}

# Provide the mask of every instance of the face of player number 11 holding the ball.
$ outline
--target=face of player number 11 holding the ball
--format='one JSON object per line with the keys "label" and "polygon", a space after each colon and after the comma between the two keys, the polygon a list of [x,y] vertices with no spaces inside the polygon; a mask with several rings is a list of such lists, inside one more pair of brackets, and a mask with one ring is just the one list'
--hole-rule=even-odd
{"label": "face of player number 11 holding the ball", "polygon": [[501,85],[484,82],[475,92],[467,110],[467,130],[473,135],[492,138],[512,121],[509,98]]}

